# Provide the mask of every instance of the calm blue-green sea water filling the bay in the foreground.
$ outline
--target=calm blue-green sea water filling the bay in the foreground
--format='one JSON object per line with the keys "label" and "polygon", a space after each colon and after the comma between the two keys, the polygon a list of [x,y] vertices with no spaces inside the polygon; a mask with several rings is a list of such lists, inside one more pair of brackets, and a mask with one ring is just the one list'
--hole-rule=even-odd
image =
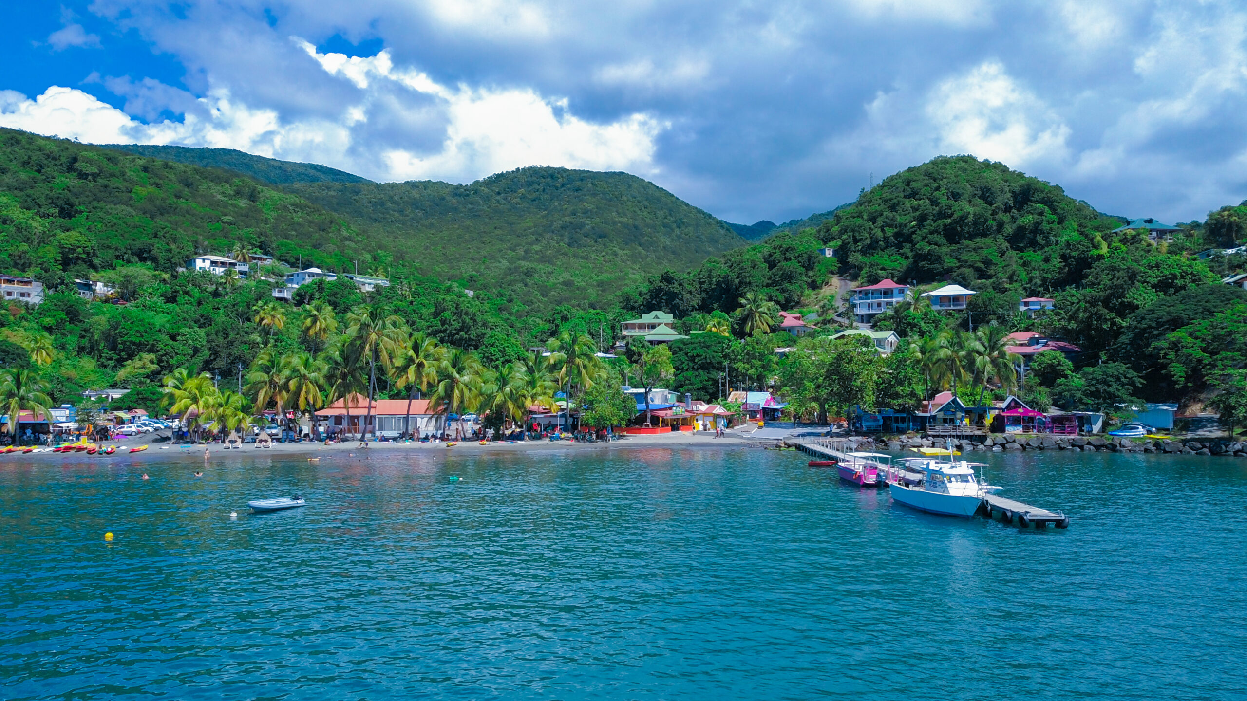
{"label": "calm blue-green sea water filling the bay in the foreground", "polygon": [[806,459],[9,458],[0,696],[1245,697],[1247,460],[986,458],[1036,533]]}

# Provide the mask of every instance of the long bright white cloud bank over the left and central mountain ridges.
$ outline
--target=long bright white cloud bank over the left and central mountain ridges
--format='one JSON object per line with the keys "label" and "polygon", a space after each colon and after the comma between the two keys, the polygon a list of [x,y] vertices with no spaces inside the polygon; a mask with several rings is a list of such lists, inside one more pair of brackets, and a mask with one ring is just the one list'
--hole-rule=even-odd
{"label": "long bright white cloud bank over the left and central mountain ridges", "polygon": [[[566,100],[550,100],[530,89],[448,87],[420,71],[395,67],[388,51],[347,57],[319,54],[297,41],[325,72],[360,90],[358,102],[342,106],[335,118],[282,120],[277,111],[252,109],[224,89],[196,100],[150,79],[107,79],[102,82],[130,97],[127,111],[151,116],[161,105],[176,104],[183,117],[145,123],[86,92],[54,86],[34,100],[0,92],[0,126],[92,143],[238,148],[325,163],[377,180],[471,181],[531,165],[656,171],[655,140],[666,123],[650,115],[595,123],[572,115]],[[393,127],[394,112],[412,111],[402,102],[403,95],[424,100],[424,111],[431,116],[398,120]],[[373,122],[400,131],[433,128],[433,147],[369,142],[364,133],[377,126]]]}

